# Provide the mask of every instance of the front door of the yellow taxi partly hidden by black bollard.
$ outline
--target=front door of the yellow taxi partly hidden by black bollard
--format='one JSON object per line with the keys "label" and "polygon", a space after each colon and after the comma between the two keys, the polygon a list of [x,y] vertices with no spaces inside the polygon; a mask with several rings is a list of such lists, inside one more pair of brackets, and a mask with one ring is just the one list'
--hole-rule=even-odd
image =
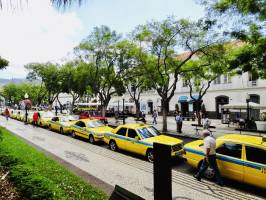
{"label": "front door of the yellow taxi partly hidden by black bollard", "polygon": [[147,149],[145,145],[140,143],[140,136],[138,135],[138,133],[131,128],[127,130],[126,149],[128,151],[144,155]]}

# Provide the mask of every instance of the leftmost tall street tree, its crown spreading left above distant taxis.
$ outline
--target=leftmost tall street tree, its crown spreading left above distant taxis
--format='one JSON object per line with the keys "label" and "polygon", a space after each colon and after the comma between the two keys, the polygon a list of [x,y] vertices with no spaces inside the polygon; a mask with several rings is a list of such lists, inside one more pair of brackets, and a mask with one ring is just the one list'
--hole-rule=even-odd
{"label": "leftmost tall street tree, its crown spreading left above distant taxis", "polygon": [[47,100],[52,106],[54,100],[61,92],[61,81],[58,66],[52,63],[30,63],[25,65],[29,71],[27,79],[29,81],[39,81],[47,90]]}

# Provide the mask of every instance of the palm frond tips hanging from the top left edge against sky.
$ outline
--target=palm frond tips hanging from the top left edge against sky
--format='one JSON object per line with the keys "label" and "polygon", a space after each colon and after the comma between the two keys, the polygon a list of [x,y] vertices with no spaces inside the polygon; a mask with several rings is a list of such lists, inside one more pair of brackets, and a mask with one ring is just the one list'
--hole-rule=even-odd
{"label": "palm frond tips hanging from the top left edge against sky", "polygon": [[[3,8],[4,4],[7,4],[7,6],[9,7],[16,7],[20,5],[23,1],[27,2],[28,0],[15,0],[15,1],[14,0],[13,1],[12,0],[10,1],[0,0],[0,9]],[[50,1],[58,7],[66,7],[76,2],[78,2],[78,4],[80,5],[83,0],[50,0]]]}

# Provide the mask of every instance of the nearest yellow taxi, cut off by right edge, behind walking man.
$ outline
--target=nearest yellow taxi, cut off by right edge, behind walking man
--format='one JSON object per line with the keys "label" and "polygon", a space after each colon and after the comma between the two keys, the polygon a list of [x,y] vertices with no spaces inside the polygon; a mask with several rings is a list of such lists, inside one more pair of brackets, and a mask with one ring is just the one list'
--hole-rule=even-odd
{"label": "nearest yellow taxi, cut off by right edge, behind walking man", "polygon": [[[216,140],[216,157],[222,176],[266,189],[266,138],[230,134]],[[194,168],[203,159],[203,141],[197,140],[184,146],[184,158]],[[208,169],[206,178],[213,178]]]}

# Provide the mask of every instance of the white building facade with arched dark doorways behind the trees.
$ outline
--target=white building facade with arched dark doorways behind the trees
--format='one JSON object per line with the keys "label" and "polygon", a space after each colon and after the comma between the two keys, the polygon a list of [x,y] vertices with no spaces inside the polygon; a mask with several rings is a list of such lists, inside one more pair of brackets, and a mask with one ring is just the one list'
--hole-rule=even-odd
{"label": "white building facade with arched dark doorways behind the trees", "polygon": [[[203,104],[209,118],[220,119],[223,111],[222,105],[235,102],[244,103],[247,95],[250,96],[251,102],[266,106],[266,80],[256,80],[248,72],[233,77],[221,75],[212,82],[203,97]],[[197,98],[196,92],[193,93],[193,97]],[[117,110],[119,107],[121,110],[123,99],[125,108],[134,112],[135,106],[128,93],[122,97],[114,96],[109,103],[109,109]],[[177,107],[183,116],[188,117],[195,110],[195,104],[190,98],[189,87],[182,80],[177,83],[175,95],[169,104],[169,111],[175,111]],[[155,90],[149,90],[141,94],[140,109],[146,114],[151,113],[153,110],[161,111],[161,98]]]}

